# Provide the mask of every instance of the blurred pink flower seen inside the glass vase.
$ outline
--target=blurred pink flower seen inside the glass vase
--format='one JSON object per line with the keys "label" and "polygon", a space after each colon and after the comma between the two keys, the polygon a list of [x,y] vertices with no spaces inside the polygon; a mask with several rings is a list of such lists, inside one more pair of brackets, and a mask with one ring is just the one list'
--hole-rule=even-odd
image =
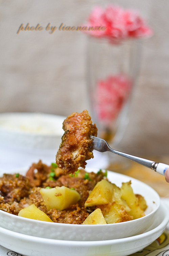
{"label": "blurred pink flower seen inside the glass vase", "polygon": [[96,89],[98,118],[110,124],[118,117],[132,87],[126,75],[109,76],[99,80]]}

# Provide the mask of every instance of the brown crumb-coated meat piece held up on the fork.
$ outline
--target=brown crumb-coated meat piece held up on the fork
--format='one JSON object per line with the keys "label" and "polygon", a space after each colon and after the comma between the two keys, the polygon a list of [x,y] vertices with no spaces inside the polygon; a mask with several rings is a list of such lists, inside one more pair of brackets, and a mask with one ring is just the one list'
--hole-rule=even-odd
{"label": "brown crumb-coated meat piece held up on the fork", "polygon": [[96,124],[92,124],[87,110],[72,113],[63,122],[65,131],[62,143],[57,151],[56,163],[65,174],[74,174],[86,160],[93,158],[91,135],[97,136]]}

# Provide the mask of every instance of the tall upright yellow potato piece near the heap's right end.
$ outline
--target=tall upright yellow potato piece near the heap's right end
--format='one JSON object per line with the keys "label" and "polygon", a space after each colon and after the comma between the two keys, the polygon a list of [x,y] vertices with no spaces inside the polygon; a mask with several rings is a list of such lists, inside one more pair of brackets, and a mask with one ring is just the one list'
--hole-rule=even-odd
{"label": "tall upright yellow potato piece near the heap's right end", "polygon": [[122,198],[126,201],[128,206],[130,207],[130,211],[128,212],[134,219],[138,219],[140,217],[145,216],[144,211],[141,209],[138,198],[134,194],[131,188],[131,181],[122,183],[121,186]]}

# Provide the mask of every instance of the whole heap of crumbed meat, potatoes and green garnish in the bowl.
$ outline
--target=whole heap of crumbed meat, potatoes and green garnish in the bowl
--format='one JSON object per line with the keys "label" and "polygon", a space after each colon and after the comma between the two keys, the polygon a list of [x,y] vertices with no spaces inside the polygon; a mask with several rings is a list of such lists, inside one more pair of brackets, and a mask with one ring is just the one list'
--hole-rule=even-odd
{"label": "whole heap of crumbed meat, potatoes and green garnish in the bowl", "polygon": [[0,178],[0,210],[21,217],[69,224],[101,224],[104,220],[110,224],[143,217],[146,208],[130,181],[119,188],[102,170],[88,173],[79,169],[75,176],[65,175],[55,163],[47,166],[39,161],[26,176],[17,173]]}

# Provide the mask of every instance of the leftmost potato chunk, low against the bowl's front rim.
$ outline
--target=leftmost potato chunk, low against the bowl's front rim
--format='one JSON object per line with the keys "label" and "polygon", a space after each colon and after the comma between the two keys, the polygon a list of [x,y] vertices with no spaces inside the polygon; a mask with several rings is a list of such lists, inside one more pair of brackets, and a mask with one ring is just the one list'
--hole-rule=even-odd
{"label": "leftmost potato chunk, low against the bowl's front rim", "polygon": [[35,206],[35,204],[31,204],[18,213],[18,216],[34,219],[34,220],[43,220],[53,222],[44,212]]}

